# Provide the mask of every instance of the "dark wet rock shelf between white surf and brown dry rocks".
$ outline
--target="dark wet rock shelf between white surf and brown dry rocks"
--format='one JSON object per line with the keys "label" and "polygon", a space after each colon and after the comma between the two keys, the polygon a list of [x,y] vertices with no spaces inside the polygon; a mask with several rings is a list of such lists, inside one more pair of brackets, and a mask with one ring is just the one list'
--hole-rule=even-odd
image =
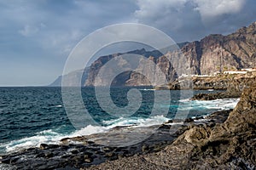
{"label": "dark wet rock shelf between white surf and brown dry rocks", "polygon": [[[207,116],[206,119],[189,118],[184,123],[177,124],[175,122],[180,122],[180,120],[169,121],[160,125],[148,139],[126,147],[110,147],[98,143],[99,139],[102,138],[104,141],[104,137],[113,132],[121,135],[122,132],[119,132],[121,127],[113,129],[113,132],[108,132],[108,134],[97,133],[61,139],[60,144],[40,144],[39,148],[29,148],[1,156],[0,169],[79,169],[118,160],[122,157],[145,156],[163,150],[191,126],[195,124],[215,126],[216,123],[224,122],[229,113],[230,111],[219,111]],[[93,141],[93,139],[97,140]]]}

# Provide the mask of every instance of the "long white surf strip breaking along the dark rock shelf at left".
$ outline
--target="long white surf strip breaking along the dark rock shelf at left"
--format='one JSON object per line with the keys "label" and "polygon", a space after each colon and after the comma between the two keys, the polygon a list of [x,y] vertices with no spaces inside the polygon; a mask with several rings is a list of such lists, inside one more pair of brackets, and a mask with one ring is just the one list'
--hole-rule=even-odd
{"label": "long white surf strip breaking along the dark rock shelf at left", "polygon": [[42,132],[36,133],[35,136],[27,137],[24,139],[13,140],[9,143],[0,144],[0,148],[4,148],[6,152],[13,152],[17,150],[23,150],[30,147],[38,147],[39,144],[59,144],[60,140],[63,138],[72,138],[76,136],[90,135],[93,133],[106,133],[109,129],[119,126],[131,126],[133,127],[148,127],[153,125],[159,125],[163,122],[166,122],[168,119],[165,116],[153,116],[146,119],[138,118],[137,120],[128,119],[128,118],[119,118],[115,121],[108,121],[109,126],[91,126],[88,125],[80,130],[76,130],[73,133],[61,134],[56,133],[52,129],[44,130]]}

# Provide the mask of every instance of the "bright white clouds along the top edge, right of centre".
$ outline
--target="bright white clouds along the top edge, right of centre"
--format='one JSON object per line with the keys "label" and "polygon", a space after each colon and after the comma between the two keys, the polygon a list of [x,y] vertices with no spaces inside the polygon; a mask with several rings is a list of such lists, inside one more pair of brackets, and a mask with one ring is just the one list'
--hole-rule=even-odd
{"label": "bright white clouds along the top edge, right of centre", "polygon": [[[190,3],[191,8],[199,11],[201,18],[217,17],[221,14],[236,14],[240,12],[245,0],[137,0],[137,18],[156,17],[159,15],[180,13],[185,5]],[[193,6],[195,5],[195,6]]]}

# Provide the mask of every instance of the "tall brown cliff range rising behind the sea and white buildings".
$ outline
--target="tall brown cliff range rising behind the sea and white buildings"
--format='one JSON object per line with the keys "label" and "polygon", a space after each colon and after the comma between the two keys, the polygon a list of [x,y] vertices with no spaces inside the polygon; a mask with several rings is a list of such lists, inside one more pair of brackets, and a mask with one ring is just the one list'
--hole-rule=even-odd
{"label": "tall brown cliff range rising behind the sea and white buildings", "polygon": [[[209,75],[216,71],[236,71],[241,68],[256,67],[256,22],[250,26],[242,27],[230,35],[223,36],[212,34],[195,42],[183,42],[177,44],[181,50],[166,48],[166,54],[159,51],[146,51],[138,49],[123,54],[139,54],[154,61],[155,65],[166,74],[166,81],[173,82],[182,73]],[[182,52],[182,53],[180,53]],[[99,57],[88,71],[88,77],[84,79],[84,86],[105,85],[106,82],[95,84],[96,75],[110,59],[119,54],[110,54]],[[171,62],[170,62],[171,60]],[[122,66],[125,62],[119,62]],[[111,68],[108,70],[112,72]],[[118,86],[145,86],[151,85],[148,75],[142,75],[137,71],[146,71],[148,74],[152,69],[148,65],[138,65],[134,71],[126,71],[116,75],[112,85]],[[154,75],[157,77],[158,75]]]}

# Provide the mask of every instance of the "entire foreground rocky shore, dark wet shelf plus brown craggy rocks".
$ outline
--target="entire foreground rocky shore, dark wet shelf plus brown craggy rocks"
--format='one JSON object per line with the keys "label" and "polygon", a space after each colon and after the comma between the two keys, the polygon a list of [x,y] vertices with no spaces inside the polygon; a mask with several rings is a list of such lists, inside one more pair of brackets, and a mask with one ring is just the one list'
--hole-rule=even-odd
{"label": "entire foreground rocky shore, dark wet shelf plus brown craggy rocks", "polygon": [[[216,95],[220,99],[232,90],[235,94],[243,90],[234,111],[166,122],[148,139],[124,147],[104,142],[122,138],[125,127],[61,139],[60,144],[40,144],[0,156],[0,169],[255,169],[256,81],[255,77],[242,80],[234,79],[224,93],[194,98],[216,99],[209,97]],[[150,128],[155,126],[139,129],[137,136]]]}

